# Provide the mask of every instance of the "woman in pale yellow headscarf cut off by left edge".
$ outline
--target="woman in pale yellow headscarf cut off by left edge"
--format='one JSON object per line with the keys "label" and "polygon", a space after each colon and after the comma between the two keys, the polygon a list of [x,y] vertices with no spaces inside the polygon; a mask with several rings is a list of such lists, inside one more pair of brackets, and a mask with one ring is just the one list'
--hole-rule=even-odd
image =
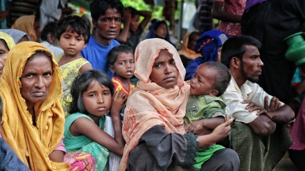
{"label": "woman in pale yellow headscarf cut off by left edge", "polygon": [[15,46],[15,42],[12,37],[6,33],[0,32],[0,77],[3,72],[4,64],[6,63],[6,56],[13,46]]}

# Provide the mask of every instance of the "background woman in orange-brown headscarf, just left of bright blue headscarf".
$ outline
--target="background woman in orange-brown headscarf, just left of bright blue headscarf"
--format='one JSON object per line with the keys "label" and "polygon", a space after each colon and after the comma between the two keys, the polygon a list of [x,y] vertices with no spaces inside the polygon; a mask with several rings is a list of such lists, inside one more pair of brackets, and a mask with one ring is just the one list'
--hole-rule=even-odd
{"label": "background woman in orange-brown headscarf, just left of bright blue headscarf", "polygon": [[180,58],[182,60],[184,68],[186,68],[187,64],[191,60],[195,60],[197,57],[201,55],[195,53],[195,44],[196,40],[199,39],[200,33],[198,31],[193,31],[190,33],[186,33],[183,37],[182,49],[178,51]]}

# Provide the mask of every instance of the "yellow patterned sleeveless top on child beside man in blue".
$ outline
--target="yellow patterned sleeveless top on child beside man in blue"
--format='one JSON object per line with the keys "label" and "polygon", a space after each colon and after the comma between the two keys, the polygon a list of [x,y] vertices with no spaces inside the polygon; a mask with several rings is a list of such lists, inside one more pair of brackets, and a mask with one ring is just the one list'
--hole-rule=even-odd
{"label": "yellow patterned sleeveless top on child beside man in blue", "polygon": [[[62,59],[63,54],[57,59],[59,62]],[[71,97],[71,86],[74,78],[78,76],[78,71],[84,64],[90,64],[85,58],[80,58],[73,60],[67,64],[60,66],[60,71],[62,72],[62,98],[60,103],[62,104],[62,109],[64,109],[64,115],[68,115],[69,102],[72,101]]]}

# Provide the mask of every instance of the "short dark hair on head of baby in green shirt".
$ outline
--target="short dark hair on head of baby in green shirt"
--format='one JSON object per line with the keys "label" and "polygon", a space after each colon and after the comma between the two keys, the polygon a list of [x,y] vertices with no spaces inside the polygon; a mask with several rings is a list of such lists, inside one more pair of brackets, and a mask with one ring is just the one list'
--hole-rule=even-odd
{"label": "short dark hair on head of baby in green shirt", "polygon": [[218,94],[216,96],[219,97],[223,95],[232,78],[231,72],[229,71],[227,66],[225,66],[220,62],[212,62],[212,61],[204,62],[202,65],[206,65],[217,72],[215,77],[215,89],[218,91]]}

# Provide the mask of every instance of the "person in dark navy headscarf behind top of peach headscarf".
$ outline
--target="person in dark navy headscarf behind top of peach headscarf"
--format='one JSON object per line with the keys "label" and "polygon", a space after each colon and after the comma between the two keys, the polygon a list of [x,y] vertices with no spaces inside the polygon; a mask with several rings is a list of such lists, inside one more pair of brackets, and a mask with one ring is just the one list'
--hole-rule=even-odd
{"label": "person in dark navy headscarf behind top of peach headscarf", "polygon": [[147,34],[146,39],[152,39],[152,38],[165,39],[167,42],[175,46],[175,44],[171,42],[171,37],[169,35],[166,21],[164,20],[159,21],[157,19],[153,19],[150,22],[152,25],[149,27],[149,33]]}

